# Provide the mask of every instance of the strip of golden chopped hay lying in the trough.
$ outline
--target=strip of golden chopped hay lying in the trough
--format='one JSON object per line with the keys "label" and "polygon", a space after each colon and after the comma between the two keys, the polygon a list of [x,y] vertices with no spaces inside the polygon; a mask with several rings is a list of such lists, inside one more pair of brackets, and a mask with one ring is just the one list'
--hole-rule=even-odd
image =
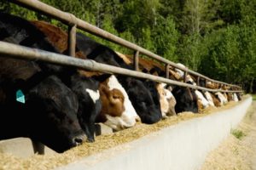
{"label": "strip of golden chopped hay lying in the trough", "polygon": [[71,150],[67,150],[62,154],[55,153],[45,156],[34,155],[29,158],[18,158],[16,156],[0,153],[0,169],[53,169],[55,167],[67,165],[68,163],[71,163],[73,161],[78,161],[84,156],[90,156],[92,154],[99,153],[102,150],[107,150],[119,144],[124,144],[127,142],[131,142],[132,140],[139,139],[147,135],[148,133],[159,131],[164,127],[175,125],[178,122],[186,121],[199,116],[206,116],[207,114],[214,113],[212,111],[229,109],[234,105],[237,105],[237,102],[229,102],[227,105],[224,105],[221,108],[212,107],[207,109],[206,111],[202,111],[200,114],[183,112],[178,114],[177,116],[170,116],[153,125],[137,123],[135,127],[131,127],[117,133],[105,135],[103,134],[97,136],[96,142],[81,144]]}

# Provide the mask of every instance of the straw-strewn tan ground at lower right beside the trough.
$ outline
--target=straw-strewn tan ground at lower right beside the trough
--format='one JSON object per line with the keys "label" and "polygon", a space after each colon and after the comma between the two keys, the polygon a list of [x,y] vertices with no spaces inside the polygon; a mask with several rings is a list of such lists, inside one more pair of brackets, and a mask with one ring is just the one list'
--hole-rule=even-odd
{"label": "straw-strewn tan ground at lower right beside the trough", "polygon": [[[234,133],[236,132],[236,133]],[[256,170],[256,101],[230,136],[207,156],[201,170]]]}

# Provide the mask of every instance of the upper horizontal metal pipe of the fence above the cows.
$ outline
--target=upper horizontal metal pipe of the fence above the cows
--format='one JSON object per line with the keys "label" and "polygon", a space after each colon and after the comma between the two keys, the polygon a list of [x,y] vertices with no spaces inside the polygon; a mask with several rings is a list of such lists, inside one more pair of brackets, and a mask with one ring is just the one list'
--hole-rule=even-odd
{"label": "upper horizontal metal pipe of the fence above the cows", "polygon": [[151,57],[153,59],[157,59],[165,64],[172,65],[173,67],[176,67],[177,69],[180,69],[182,71],[188,71],[188,73],[191,75],[205,78],[210,82],[218,82],[218,83],[222,83],[224,85],[229,85],[231,87],[239,87],[239,86],[236,86],[233,84],[228,84],[226,82],[219,82],[219,81],[213,80],[209,77],[205,77],[205,76],[201,75],[200,73],[191,71],[189,69],[184,69],[183,67],[176,65],[172,61],[170,61],[168,59],[164,59],[164,58],[160,57],[159,55],[148,51],[145,48],[141,48],[134,43],[128,42],[120,37],[114,36],[113,34],[109,33],[108,31],[104,31],[96,26],[92,26],[89,23],[85,22],[84,20],[80,20],[80,19],[76,18],[73,14],[63,12],[60,9],[54,8],[45,3],[42,3],[40,1],[37,1],[37,0],[10,0],[10,1],[12,3],[19,4],[20,6],[30,8],[34,11],[38,11],[40,13],[49,15],[50,17],[55,18],[56,20],[60,20],[61,22],[66,23],[67,25],[77,25],[77,27],[81,30],[88,31],[91,34],[94,34],[98,37],[107,39],[108,41],[118,43],[119,45],[125,46],[126,48],[131,48],[132,50],[138,51],[141,54],[148,55],[149,57]]}

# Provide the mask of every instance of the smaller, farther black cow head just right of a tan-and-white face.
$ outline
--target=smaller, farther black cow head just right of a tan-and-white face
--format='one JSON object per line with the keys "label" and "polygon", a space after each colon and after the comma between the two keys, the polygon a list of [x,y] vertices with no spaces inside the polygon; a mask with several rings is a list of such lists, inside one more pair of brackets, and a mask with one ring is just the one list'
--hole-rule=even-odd
{"label": "smaller, farther black cow head just right of a tan-and-white face", "polygon": [[172,90],[177,104],[175,105],[175,111],[177,113],[183,111],[191,111],[198,113],[197,97],[195,89],[183,88],[175,86]]}

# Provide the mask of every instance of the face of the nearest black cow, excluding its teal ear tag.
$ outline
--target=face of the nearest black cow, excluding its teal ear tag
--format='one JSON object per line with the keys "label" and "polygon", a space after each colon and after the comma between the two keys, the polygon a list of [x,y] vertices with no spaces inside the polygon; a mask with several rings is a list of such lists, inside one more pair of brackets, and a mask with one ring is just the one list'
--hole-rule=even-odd
{"label": "face of the nearest black cow, excluding its teal ear tag", "polygon": [[63,152],[85,138],[77,117],[78,99],[57,77],[51,76],[26,97],[29,136],[52,150]]}

